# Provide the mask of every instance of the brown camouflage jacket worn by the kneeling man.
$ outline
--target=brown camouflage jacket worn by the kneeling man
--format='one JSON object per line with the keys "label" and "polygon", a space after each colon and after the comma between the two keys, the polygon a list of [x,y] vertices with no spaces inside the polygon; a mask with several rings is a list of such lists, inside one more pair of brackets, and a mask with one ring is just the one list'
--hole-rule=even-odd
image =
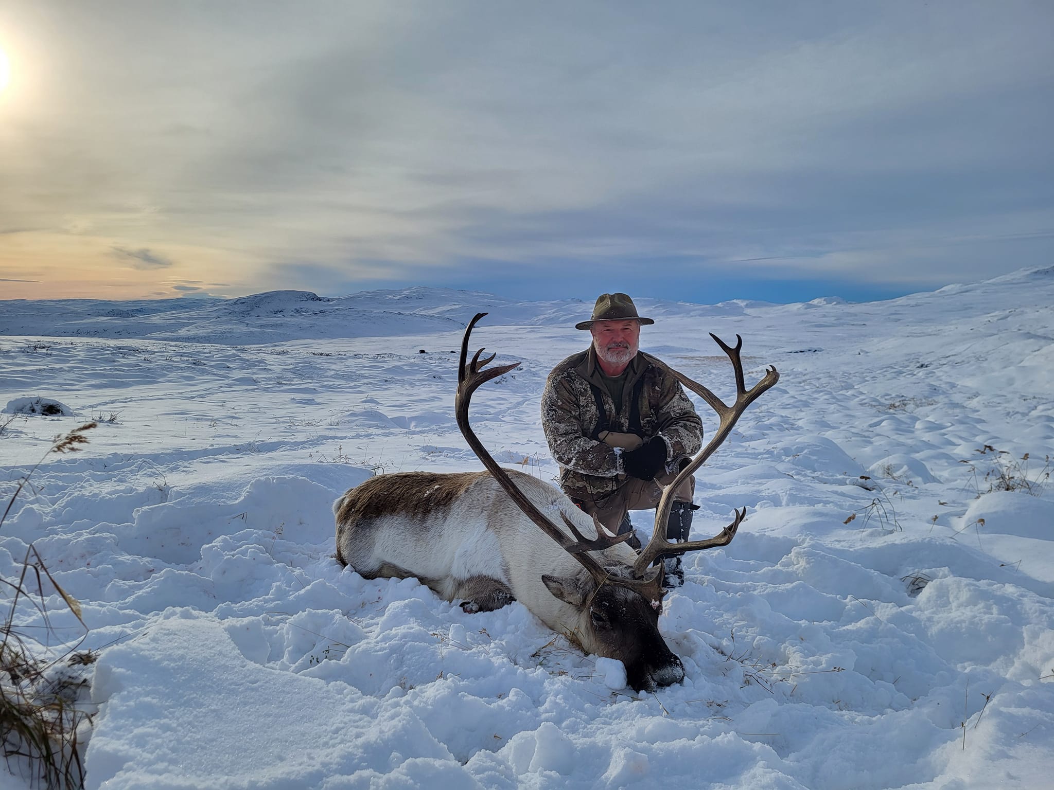
{"label": "brown camouflage jacket worn by the kneeling man", "polygon": [[542,394],[542,429],[560,465],[560,485],[572,497],[611,493],[625,479],[622,451],[594,438],[602,420],[590,382],[599,388],[605,427],[629,433],[633,388],[643,378],[638,401],[640,433],[645,439],[656,435],[665,439],[668,468],[676,469],[676,460],[698,453],[703,442],[702,420],[680,381],[656,357],[641,352],[630,361],[621,413],[616,412],[602,376],[590,345],[553,368]]}

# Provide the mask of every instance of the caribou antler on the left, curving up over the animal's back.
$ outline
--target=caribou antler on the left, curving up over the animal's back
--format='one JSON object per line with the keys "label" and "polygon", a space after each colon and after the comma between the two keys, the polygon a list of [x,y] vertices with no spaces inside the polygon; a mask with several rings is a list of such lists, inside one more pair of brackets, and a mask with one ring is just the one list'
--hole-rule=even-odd
{"label": "caribou antler on the left, curving up over the animal's back", "polygon": [[563,516],[564,524],[570,528],[571,533],[574,535],[574,540],[571,540],[557,525],[546,518],[542,512],[535,508],[530,499],[516,487],[512,479],[509,477],[508,472],[503,469],[497,461],[493,459],[487,449],[476,437],[475,433],[472,431],[472,427],[468,422],[468,407],[469,401],[472,398],[472,393],[476,389],[489,381],[492,378],[497,378],[514,368],[520,367],[520,362],[511,362],[509,364],[501,364],[496,368],[491,368],[489,370],[484,370],[491,361],[493,361],[495,354],[491,354],[486,359],[480,359],[480,355],[483,353],[483,349],[475,352],[475,356],[472,357],[471,363],[466,363],[468,359],[468,338],[472,334],[472,329],[475,327],[476,321],[483,318],[486,313],[477,313],[475,317],[469,321],[468,327],[465,329],[465,336],[462,338],[462,353],[461,360],[457,368],[457,394],[454,396],[454,411],[457,416],[457,427],[461,429],[462,435],[465,440],[468,441],[469,447],[472,448],[472,452],[476,454],[483,466],[487,468],[487,471],[493,475],[494,479],[497,480],[499,485],[505,489],[506,493],[512,498],[519,507],[520,510],[524,512],[530,520],[539,526],[539,528],[553,540],[555,540],[567,553],[574,557],[583,568],[589,571],[589,574],[596,579],[597,586],[600,587],[605,581],[614,582],[625,582],[631,581],[627,579],[616,579],[609,578],[607,572],[601,568],[600,564],[589,556],[587,552],[590,551],[603,551],[617,544],[621,544],[624,540],[628,540],[632,535],[631,532],[627,532],[624,535],[611,535],[608,533],[596,516],[593,516],[593,526],[597,528],[596,539],[586,538],[580,533],[574,525],[567,518],[566,515],[561,513]]}

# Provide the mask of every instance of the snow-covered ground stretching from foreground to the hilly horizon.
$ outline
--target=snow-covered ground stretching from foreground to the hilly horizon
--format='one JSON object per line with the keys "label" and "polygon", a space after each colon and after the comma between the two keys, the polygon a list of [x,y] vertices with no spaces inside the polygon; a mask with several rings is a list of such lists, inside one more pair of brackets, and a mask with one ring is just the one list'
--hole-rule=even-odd
{"label": "snow-covered ground stretching from foreground to the hilly horizon", "polygon": [[83,607],[89,788],[1051,787],[1051,304],[1054,269],[867,304],[640,300],[642,348],[719,395],[708,332],[743,335],[748,383],[781,373],[699,474],[695,536],[748,516],[687,556],[660,620],[687,677],[656,694],[519,604],[466,614],[333,558],[347,488],[481,468],[453,419],[477,310],[473,348],[522,361],[474,397],[477,433],[553,477],[539,399],[585,345],[580,301],[0,302],[0,407],[74,412],[6,426],[0,505],[102,420],[16,500],[0,575],[32,541]]}

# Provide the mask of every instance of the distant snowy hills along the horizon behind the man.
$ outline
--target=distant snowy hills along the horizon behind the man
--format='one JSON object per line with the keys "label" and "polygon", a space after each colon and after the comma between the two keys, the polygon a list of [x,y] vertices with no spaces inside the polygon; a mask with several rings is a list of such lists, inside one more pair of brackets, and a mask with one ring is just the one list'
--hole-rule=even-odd
{"label": "distant snowy hills along the horizon behind the man", "polygon": [[[1050,282],[1054,266],[1021,270],[980,283],[948,285],[934,293],[890,300],[905,309],[942,295],[972,294],[978,305],[993,289],[1022,282]],[[844,310],[842,299],[821,297],[796,304],[733,299],[719,304],[640,298],[641,315],[656,319],[735,318],[765,310]],[[856,305],[863,309],[865,305]],[[566,325],[588,318],[591,302],[582,299],[515,301],[493,294],[445,288],[363,291],[343,297],[310,291],[268,291],[236,299],[156,299],[106,301],[60,299],[0,300],[0,335],[42,337],[145,338],[251,345],[317,338],[379,337],[457,332],[475,313],[489,313],[490,324]]]}

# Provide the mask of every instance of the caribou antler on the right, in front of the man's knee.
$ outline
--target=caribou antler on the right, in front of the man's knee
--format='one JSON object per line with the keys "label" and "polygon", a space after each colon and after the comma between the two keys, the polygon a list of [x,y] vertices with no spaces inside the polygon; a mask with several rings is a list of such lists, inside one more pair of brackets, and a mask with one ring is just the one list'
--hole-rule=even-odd
{"label": "caribou antler on the right, in front of the man's knee", "polygon": [[669,518],[669,509],[674,503],[674,491],[680,486],[685,479],[688,478],[697,469],[699,469],[707,458],[717,450],[721,443],[728,438],[728,434],[731,433],[733,426],[740,418],[746,408],[753,403],[762,393],[773,387],[777,381],[780,380],[780,374],[777,372],[776,368],[767,368],[765,370],[764,377],[758,381],[749,390],[746,389],[746,384],[743,381],[743,361],[740,359],[739,350],[743,348],[743,338],[736,335],[736,347],[733,348],[721,340],[720,337],[710,333],[710,337],[720,345],[724,353],[728,355],[731,360],[733,368],[736,372],[736,402],[730,407],[725,406],[724,401],[721,400],[717,395],[707,390],[701,383],[692,381],[690,378],[682,373],[671,370],[670,372],[677,376],[678,380],[682,384],[687,387],[694,393],[699,395],[703,400],[705,400],[709,407],[718,413],[720,422],[718,424],[717,433],[714,434],[714,438],[709,440],[705,448],[697,455],[691,463],[687,465],[674,481],[665,488],[662,493],[662,498],[659,500],[659,507],[656,508],[656,526],[651,531],[651,539],[648,545],[641,552],[637,561],[633,564],[633,576],[641,578],[649,565],[651,565],[660,555],[676,555],[684,554],[689,551],[698,551],[700,549],[715,549],[719,546],[727,546],[731,539],[736,536],[736,530],[739,529],[740,522],[746,515],[746,508],[741,511],[734,511],[736,514],[735,520],[725,527],[720,534],[715,537],[707,538],[705,540],[688,540],[683,544],[674,544],[666,539],[666,521]]}

